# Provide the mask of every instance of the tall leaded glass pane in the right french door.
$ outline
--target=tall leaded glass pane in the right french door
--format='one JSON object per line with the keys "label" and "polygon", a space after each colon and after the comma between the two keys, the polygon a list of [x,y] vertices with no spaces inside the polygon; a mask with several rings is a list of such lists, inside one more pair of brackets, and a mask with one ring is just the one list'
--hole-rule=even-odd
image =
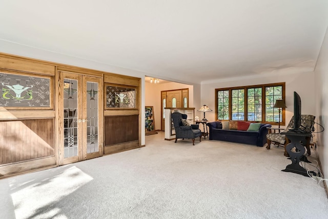
{"label": "tall leaded glass pane in the right french door", "polygon": [[98,152],[98,83],[87,82],[87,153]]}

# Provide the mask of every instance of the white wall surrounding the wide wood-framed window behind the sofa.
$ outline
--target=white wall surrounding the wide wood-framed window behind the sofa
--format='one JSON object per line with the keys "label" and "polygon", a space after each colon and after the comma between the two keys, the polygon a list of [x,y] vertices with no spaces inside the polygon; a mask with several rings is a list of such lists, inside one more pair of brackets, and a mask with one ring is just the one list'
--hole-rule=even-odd
{"label": "white wall surrounding the wide wood-framed window behind the sofa", "polygon": [[[286,83],[285,103],[286,108],[286,125],[294,114],[294,95],[296,91],[302,101],[302,114],[315,115],[314,100],[314,72],[307,73],[285,73],[283,71],[272,72],[271,74],[256,75],[244,78],[224,79],[216,83],[201,84],[201,104],[207,104],[213,111],[206,112],[206,118],[209,121],[215,119],[215,89],[226,87],[249,86],[258,84]],[[285,126],[283,126],[285,127]]]}

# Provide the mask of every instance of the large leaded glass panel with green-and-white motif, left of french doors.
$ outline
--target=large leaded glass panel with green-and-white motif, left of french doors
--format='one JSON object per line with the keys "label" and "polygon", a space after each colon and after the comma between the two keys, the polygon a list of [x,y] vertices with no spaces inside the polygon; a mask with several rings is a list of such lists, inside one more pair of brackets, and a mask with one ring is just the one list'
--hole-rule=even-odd
{"label": "large leaded glass panel with green-and-white motif, left of french doors", "polygon": [[1,107],[50,107],[50,78],[0,73]]}

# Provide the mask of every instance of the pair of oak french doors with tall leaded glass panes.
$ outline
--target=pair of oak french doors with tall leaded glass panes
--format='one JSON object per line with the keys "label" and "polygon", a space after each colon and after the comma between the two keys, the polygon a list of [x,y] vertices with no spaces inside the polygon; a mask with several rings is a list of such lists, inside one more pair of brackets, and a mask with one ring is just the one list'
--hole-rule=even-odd
{"label": "pair of oak french doors with tall leaded glass panes", "polygon": [[59,72],[59,165],[103,155],[103,82]]}

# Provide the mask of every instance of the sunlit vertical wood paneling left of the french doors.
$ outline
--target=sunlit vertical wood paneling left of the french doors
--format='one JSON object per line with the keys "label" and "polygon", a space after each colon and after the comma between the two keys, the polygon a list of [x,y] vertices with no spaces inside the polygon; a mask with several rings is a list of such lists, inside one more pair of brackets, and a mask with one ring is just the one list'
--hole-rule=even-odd
{"label": "sunlit vertical wood paneling left of the french doors", "polygon": [[0,121],[0,165],[54,155],[54,120]]}

